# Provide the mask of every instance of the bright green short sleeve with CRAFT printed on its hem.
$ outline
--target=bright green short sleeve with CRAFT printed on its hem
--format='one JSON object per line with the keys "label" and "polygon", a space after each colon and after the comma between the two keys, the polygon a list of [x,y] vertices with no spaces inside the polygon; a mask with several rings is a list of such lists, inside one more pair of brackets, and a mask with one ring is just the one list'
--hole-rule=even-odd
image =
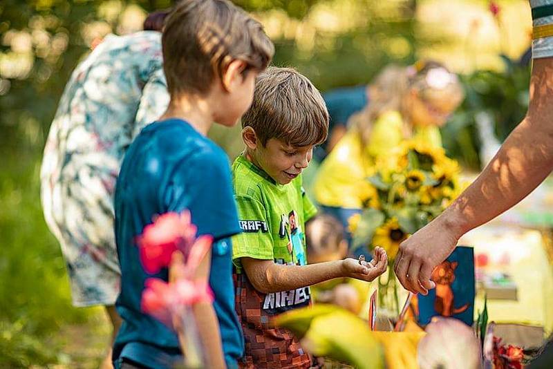
{"label": "bright green short sleeve with CRAFT printed on its hem", "polygon": [[249,196],[237,195],[235,199],[242,233],[232,240],[232,260],[236,265],[243,257],[273,260],[271,224],[265,207]]}

